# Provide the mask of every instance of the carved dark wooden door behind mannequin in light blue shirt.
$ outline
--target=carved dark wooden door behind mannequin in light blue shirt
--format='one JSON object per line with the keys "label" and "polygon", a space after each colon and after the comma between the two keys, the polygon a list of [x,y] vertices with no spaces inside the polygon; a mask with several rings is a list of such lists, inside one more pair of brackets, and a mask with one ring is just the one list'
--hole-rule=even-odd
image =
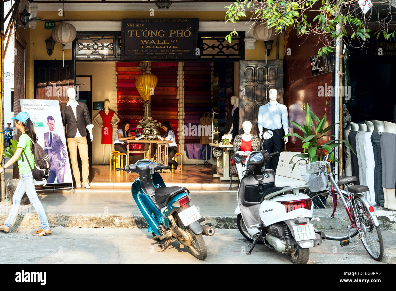
{"label": "carved dark wooden door behind mannequin in light blue shirt", "polygon": [[259,108],[268,102],[268,91],[278,90],[278,102],[283,104],[283,60],[239,62],[239,128],[246,120],[252,123],[251,133],[258,135]]}

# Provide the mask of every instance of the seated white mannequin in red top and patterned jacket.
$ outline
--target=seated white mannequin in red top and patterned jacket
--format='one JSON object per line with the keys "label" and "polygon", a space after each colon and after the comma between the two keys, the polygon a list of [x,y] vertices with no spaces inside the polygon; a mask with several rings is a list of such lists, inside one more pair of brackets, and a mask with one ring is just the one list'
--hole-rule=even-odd
{"label": "seated white mannequin in red top and patterned jacket", "polygon": [[[244,129],[244,134],[237,135],[234,139],[234,150],[232,154],[242,155],[245,157],[245,160],[250,152],[257,151],[260,149],[260,139],[257,135],[250,134],[251,127],[252,127],[251,122],[245,121],[242,124],[242,128]],[[234,165],[234,167],[236,166],[238,177],[239,179],[241,179],[242,163],[235,164],[234,160],[232,160],[231,165]]]}

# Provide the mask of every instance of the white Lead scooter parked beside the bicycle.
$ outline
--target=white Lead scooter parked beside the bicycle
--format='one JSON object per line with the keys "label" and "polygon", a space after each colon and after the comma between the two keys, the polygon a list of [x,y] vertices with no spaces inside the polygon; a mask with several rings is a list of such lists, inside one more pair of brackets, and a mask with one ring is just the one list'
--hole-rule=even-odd
{"label": "white Lead scooter parked beside the bicycle", "polygon": [[238,188],[237,225],[241,234],[253,242],[264,243],[279,253],[287,253],[295,264],[306,264],[309,248],[326,238],[310,223],[313,204],[306,195],[307,185],[275,188],[275,173],[265,164],[278,152],[250,152],[246,164],[238,156],[232,159],[243,164]]}

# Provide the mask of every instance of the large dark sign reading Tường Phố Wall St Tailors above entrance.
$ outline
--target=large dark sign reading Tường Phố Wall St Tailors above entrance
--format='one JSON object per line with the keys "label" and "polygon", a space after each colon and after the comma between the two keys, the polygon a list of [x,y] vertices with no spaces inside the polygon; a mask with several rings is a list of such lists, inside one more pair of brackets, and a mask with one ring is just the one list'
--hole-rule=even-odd
{"label": "large dark sign reading T\u01b0\u1eddng Ph\u1ed1 Wall St Tailors above entrance", "polygon": [[121,59],[196,59],[198,18],[122,19]]}

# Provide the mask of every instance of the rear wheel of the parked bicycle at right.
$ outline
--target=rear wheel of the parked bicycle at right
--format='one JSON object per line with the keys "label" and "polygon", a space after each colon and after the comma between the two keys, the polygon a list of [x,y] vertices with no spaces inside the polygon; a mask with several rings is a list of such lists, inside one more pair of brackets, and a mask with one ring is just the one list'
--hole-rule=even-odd
{"label": "rear wheel of the parked bicycle at right", "polygon": [[360,198],[355,199],[356,215],[360,221],[360,226],[365,234],[362,243],[367,253],[375,261],[381,261],[384,255],[384,244],[382,241],[381,229],[375,226],[370,219],[370,212]]}

